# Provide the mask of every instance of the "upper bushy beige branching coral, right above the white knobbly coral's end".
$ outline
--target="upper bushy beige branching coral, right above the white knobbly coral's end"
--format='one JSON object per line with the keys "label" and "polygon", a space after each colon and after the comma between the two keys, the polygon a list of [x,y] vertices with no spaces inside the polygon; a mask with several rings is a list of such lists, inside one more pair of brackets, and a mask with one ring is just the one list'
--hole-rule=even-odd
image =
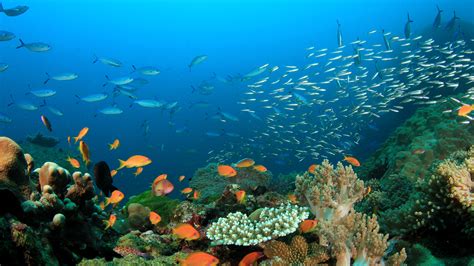
{"label": "upper bushy beige branching coral, right above the white knobbly coral's end", "polygon": [[296,177],[295,194],[320,221],[337,222],[346,216],[364,191],[364,182],[357,179],[351,166],[338,163],[334,169],[327,160],[316,167],[314,174],[306,172]]}

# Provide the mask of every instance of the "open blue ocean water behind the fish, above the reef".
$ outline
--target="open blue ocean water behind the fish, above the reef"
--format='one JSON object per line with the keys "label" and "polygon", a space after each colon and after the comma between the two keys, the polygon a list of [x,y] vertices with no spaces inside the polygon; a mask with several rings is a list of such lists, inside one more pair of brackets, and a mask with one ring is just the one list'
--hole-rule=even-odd
{"label": "open blue ocean water behind the fish, above the reef", "polygon": [[[4,1],[5,7],[25,4]],[[117,187],[126,194],[143,191],[153,178],[161,173],[170,176],[191,176],[207,159],[221,150],[236,152],[232,160],[251,156],[276,173],[302,170],[313,158],[300,161],[294,151],[271,150],[263,144],[252,144],[253,150],[240,150],[267,125],[242,113],[242,94],[250,82],[237,80],[225,84],[213,77],[239,76],[256,67],[271,64],[304,65],[306,48],[335,49],[339,20],[346,43],[367,38],[370,30],[385,29],[403,36],[407,12],[414,20],[412,32],[419,34],[431,26],[436,16],[436,5],[443,13],[443,23],[452,11],[465,21],[472,22],[472,1],[29,1],[30,9],[18,17],[0,16],[0,30],[16,34],[17,39],[0,43],[0,62],[9,69],[0,73],[0,112],[13,119],[0,125],[2,135],[23,139],[42,132],[40,115],[51,120],[51,135],[61,139],[67,148],[67,136],[75,136],[83,127],[89,127],[87,143],[93,161],[105,160],[112,168],[117,159],[143,154],[153,160],[144,172],[134,177],[125,171],[116,178]],[[15,49],[18,38],[25,42],[45,42],[51,51],[32,53]],[[382,43],[380,33],[370,37]],[[93,64],[94,55],[111,57],[123,62],[120,68]],[[189,70],[188,65],[197,55],[207,55],[202,64]],[[171,118],[168,111],[145,109],[133,100],[112,97],[113,86],[103,84],[109,77],[127,76],[132,65],[155,66],[161,74],[146,77],[148,84],[136,94],[140,99],[158,99],[178,102],[181,107]],[[45,73],[74,72],[79,78],[73,81],[51,80]],[[258,80],[258,78],[256,79]],[[211,95],[192,93],[191,86],[208,81],[215,86]],[[60,109],[58,117],[45,108],[24,111],[7,107],[10,94],[16,101],[27,99],[37,105],[42,100],[25,95],[30,88],[52,88],[57,95],[47,99],[49,106]],[[78,102],[75,95],[108,93],[100,103]],[[328,92],[331,93],[331,92]],[[198,109],[190,105],[206,101],[209,107]],[[117,116],[97,114],[97,110],[116,104],[124,110]],[[337,103],[344,104],[344,103]],[[238,122],[222,123],[210,116],[222,111],[239,117]],[[402,114],[390,114],[374,122],[361,132],[364,148],[350,146],[348,151],[365,158],[383,142],[390,131],[403,120]],[[398,121],[398,122],[397,122]],[[311,121],[313,123],[314,121]],[[350,121],[348,121],[350,122]],[[144,136],[143,125],[149,126]],[[177,129],[185,127],[183,133]],[[241,137],[208,137],[206,132],[232,132]],[[348,132],[350,133],[350,132]],[[107,144],[120,139],[121,147],[109,151]],[[347,144],[349,145],[349,144]],[[352,144],[351,144],[352,145]],[[370,147],[370,149],[367,149]],[[357,150],[358,149],[358,150]],[[355,152],[357,151],[357,152]],[[271,153],[276,155],[268,156]],[[329,155],[341,160],[343,154]],[[320,160],[320,159],[318,159]],[[232,161],[227,161],[231,163]]]}

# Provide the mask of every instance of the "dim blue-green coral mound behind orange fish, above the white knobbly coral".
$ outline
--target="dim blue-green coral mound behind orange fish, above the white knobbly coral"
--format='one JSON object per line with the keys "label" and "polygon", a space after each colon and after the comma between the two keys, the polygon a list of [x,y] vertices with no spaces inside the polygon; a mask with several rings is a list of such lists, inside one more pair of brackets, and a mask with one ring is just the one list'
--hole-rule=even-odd
{"label": "dim blue-green coral mound behind orange fish, above the white knobbly coral", "polygon": [[217,164],[209,164],[196,170],[189,185],[201,193],[200,201],[211,202],[220,197],[229,184],[238,184],[241,189],[252,191],[259,186],[268,187],[271,178],[269,171],[259,172],[252,167],[238,168],[236,176],[223,177],[217,172]]}

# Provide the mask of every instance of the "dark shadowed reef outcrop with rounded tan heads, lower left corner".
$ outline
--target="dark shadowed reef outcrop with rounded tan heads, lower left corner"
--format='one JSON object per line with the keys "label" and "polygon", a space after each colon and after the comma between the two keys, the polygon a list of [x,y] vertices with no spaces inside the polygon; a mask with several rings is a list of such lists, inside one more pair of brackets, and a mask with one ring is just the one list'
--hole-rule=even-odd
{"label": "dark shadowed reef outcrop with rounded tan heads, lower left corner", "polygon": [[[46,163],[35,171],[39,179],[30,178],[32,165],[20,147],[7,138],[0,138],[0,146],[6,151],[0,155],[0,197],[8,200],[8,206],[0,208],[0,263],[75,264],[82,258],[116,256],[113,247],[118,234],[104,231],[102,220],[108,214],[94,205],[87,174],[75,173],[71,184],[67,170]],[[66,194],[68,189],[71,193]]]}

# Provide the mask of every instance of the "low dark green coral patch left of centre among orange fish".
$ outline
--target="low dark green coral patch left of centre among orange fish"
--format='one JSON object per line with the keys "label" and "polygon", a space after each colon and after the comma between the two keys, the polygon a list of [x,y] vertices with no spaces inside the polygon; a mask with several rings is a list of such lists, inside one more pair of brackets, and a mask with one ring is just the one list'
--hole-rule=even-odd
{"label": "low dark green coral patch left of centre among orange fish", "polygon": [[154,196],[151,190],[148,190],[131,197],[127,202],[126,208],[128,208],[128,205],[132,203],[139,203],[150,208],[151,211],[154,211],[161,216],[160,224],[167,224],[173,215],[174,209],[178,206],[179,200],[170,199],[166,196]]}

